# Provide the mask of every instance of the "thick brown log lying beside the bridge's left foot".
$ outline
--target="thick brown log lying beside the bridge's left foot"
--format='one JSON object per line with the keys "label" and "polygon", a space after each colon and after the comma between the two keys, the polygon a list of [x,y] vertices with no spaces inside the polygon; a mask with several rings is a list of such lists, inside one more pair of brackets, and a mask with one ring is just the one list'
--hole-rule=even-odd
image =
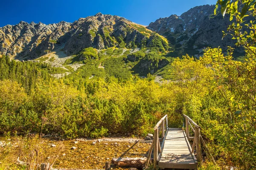
{"label": "thick brown log lying beside the bridge's left foot", "polygon": [[113,158],[111,163],[119,167],[142,168],[147,158]]}

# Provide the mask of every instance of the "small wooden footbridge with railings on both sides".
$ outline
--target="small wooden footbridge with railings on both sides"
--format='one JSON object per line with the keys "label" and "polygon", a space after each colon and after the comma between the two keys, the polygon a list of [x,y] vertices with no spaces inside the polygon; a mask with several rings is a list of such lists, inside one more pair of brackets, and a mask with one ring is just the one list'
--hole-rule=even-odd
{"label": "small wooden footbridge with railings on both sides", "polygon": [[[157,169],[157,165],[161,169],[197,169],[198,165],[201,165],[201,142],[204,145],[207,153],[209,153],[209,150],[207,149],[206,144],[200,135],[201,127],[190,119],[189,116],[183,116],[186,119],[186,131],[184,131],[182,128],[168,128],[167,115],[160,119],[157,125],[155,125],[154,141],[149,149],[146,165],[148,165],[151,161],[153,149],[154,169]],[[189,136],[189,127],[195,136]],[[159,138],[159,135],[161,138]],[[193,140],[192,147],[189,140]],[[194,154],[195,147],[196,156]],[[211,159],[213,159],[212,156]]]}

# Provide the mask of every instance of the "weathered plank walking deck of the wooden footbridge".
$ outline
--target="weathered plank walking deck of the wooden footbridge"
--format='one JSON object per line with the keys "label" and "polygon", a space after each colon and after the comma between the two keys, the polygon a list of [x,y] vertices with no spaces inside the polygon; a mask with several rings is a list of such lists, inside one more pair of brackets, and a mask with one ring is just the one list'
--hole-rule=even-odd
{"label": "weathered plank walking deck of the wooden footbridge", "polygon": [[169,128],[163,142],[159,168],[197,169],[197,160],[194,153],[191,153],[191,146],[181,128]]}

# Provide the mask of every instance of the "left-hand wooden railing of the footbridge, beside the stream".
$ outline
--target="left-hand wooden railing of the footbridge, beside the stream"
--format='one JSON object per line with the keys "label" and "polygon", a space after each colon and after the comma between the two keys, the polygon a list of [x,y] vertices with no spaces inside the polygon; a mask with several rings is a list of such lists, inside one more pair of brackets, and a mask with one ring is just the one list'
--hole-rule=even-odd
{"label": "left-hand wooden railing of the footbridge, beside the stream", "polygon": [[[160,132],[162,132],[162,135],[161,135],[162,138],[159,139]],[[145,163],[146,166],[148,166],[148,163],[151,161],[151,153],[154,148],[154,169],[157,168],[157,161],[160,158],[160,154],[162,153],[163,144],[164,144],[164,140],[166,138],[167,132],[168,132],[168,118],[166,114],[165,116],[163,116],[162,119],[160,119],[159,122],[157,122],[157,125],[155,125],[154,127],[154,140],[148,151],[148,158]],[[162,141],[162,145],[160,145],[160,141]]]}

